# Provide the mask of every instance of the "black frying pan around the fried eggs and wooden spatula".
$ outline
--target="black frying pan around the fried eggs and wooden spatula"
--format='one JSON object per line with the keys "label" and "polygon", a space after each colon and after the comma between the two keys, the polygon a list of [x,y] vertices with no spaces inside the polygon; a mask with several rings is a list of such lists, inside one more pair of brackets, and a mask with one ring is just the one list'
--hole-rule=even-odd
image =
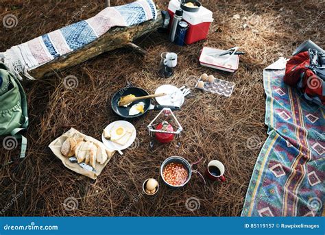
{"label": "black frying pan around the fried eggs and wooden spatula", "polygon": [[[126,118],[126,119],[132,119],[138,116],[142,116],[145,114],[148,110],[162,110],[163,108],[170,108],[171,110],[180,110],[180,107],[176,106],[153,106],[151,105],[151,99],[140,99],[137,101],[134,101],[131,103],[128,107],[119,107],[117,103],[121,99],[121,97],[124,97],[125,95],[135,95],[136,97],[143,97],[145,95],[149,95],[149,93],[146,90],[143,90],[139,87],[125,87],[119,90],[115,93],[115,95],[112,97],[112,101],[110,102],[110,105],[112,106],[112,110],[119,116]],[[139,102],[145,103],[145,112],[139,113],[133,116],[129,115],[130,108]]]}

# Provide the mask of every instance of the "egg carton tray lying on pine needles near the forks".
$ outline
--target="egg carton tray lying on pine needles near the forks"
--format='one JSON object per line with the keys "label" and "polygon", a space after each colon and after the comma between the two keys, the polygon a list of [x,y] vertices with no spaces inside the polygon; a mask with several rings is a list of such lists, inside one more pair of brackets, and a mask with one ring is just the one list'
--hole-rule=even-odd
{"label": "egg carton tray lying on pine needles near the forks", "polygon": [[[200,81],[202,81],[202,79],[199,79],[197,82]],[[224,95],[225,97],[230,97],[232,95],[232,91],[234,90],[234,85],[235,84],[233,82],[215,78],[213,82],[204,82],[203,88],[198,88],[197,86],[195,87],[218,95]]]}

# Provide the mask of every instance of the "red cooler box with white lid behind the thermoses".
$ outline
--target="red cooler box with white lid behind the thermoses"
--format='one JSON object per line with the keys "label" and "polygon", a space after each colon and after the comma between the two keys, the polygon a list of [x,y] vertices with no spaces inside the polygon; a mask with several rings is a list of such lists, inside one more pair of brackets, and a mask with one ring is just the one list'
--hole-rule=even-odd
{"label": "red cooler box with white lid behind the thermoses", "polygon": [[[171,16],[169,27],[171,26],[173,14],[175,14],[178,9],[180,9],[180,2],[178,0],[169,1],[168,12]],[[206,39],[208,36],[208,28],[211,22],[213,22],[212,12],[203,6],[200,7],[198,12],[186,12],[183,10],[183,21],[189,23],[185,43],[191,44]]]}

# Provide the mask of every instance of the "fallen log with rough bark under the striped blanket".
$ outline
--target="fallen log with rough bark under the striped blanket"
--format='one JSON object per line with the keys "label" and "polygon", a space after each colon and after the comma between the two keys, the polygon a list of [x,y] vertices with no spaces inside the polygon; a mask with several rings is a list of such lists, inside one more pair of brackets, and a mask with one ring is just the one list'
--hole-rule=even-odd
{"label": "fallen log with rough bark under the striped blanket", "polygon": [[160,10],[158,10],[157,13],[156,20],[146,21],[140,25],[134,25],[132,27],[112,27],[106,34],[97,38],[97,40],[91,42],[82,49],[73,51],[47,64],[38,66],[36,69],[29,71],[29,75],[32,75],[32,77],[36,79],[47,77],[57,71],[67,69],[68,67],[94,58],[101,53],[121,47],[134,48],[136,51],[143,54],[145,51],[132,42],[134,39],[152,32],[163,25],[163,18]]}

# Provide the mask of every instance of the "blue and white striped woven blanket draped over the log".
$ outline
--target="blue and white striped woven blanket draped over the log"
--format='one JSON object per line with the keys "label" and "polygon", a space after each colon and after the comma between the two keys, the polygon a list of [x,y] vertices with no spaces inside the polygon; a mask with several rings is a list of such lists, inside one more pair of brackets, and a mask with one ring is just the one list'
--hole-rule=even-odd
{"label": "blue and white striped woven blanket draped over the log", "polygon": [[88,45],[108,32],[111,27],[137,25],[156,17],[156,5],[152,0],[139,0],[105,8],[86,21],[73,23],[14,46],[0,53],[0,60],[20,78],[20,75],[25,75],[33,79],[28,75],[28,71]]}

